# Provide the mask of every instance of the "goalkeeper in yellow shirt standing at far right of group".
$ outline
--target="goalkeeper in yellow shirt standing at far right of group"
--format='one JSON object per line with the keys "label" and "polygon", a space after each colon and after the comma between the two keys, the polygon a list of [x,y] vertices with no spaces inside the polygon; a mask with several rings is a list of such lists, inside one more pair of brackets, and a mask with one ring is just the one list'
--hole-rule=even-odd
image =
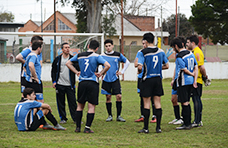
{"label": "goalkeeper in yellow shirt standing at far right of group", "polygon": [[192,100],[194,103],[194,112],[195,119],[192,124],[192,127],[201,127],[203,126],[202,122],[202,110],[203,104],[201,101],[202,89],[203,89],[203,80],[208,79],[206,69],[204,67],[204,54],[202,50],[198,47],[199,39],[198,36],[192,35],[187,38],[186,45],[188,49],[191,50],[196,58],[198,63],[198,78],[197,78],[197,88],[193,89]]}

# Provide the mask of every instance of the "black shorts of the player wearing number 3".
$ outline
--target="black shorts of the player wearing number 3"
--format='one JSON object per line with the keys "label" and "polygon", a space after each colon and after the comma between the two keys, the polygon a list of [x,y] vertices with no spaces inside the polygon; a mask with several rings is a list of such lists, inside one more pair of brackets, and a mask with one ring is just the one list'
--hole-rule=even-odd
{"label": "black shorts of the player wearing number 3", "polygon": [[78,84],[78,102],[98,105],[99,83],[95,81],[81,81]]}

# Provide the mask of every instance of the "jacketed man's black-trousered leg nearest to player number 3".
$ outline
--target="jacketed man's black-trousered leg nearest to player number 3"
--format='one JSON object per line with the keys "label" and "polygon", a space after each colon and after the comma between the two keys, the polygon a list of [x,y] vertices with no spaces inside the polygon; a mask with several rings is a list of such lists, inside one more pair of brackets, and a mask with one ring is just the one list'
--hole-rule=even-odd
{"label": "jacketed man's black-trousered leg nearest to player number 3", "polygon": [[71,88],[70,86],[67,86],[66,94],[67,94],[67,101],[68,101],[68,107],[70,110],[71,118],[73,119],[74,122],[76,122],[77,103],[75,98],[75,89]]}

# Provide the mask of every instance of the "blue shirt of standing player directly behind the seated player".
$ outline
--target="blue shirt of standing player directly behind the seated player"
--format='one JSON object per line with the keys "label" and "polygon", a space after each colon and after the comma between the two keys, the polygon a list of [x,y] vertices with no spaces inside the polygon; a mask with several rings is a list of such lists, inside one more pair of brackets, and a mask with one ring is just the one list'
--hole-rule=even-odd
{"label": "blue shirt of standing player directly behind the seated player", "polygon": [[39,84],[41,84],[41,64],[40,64],[40,60],[37,56],[36,53],[31,52],[28,57],[26,58],[26,61],[24,63],[24,67],[26,68],[26,75],[25,75],[25,79],[28,82],[32,82],[32,74],[31,71],[29,69],[29,63],[32,62],[34,64],[35,70],[36,70],[36,75],[37,78],[39,80]]}

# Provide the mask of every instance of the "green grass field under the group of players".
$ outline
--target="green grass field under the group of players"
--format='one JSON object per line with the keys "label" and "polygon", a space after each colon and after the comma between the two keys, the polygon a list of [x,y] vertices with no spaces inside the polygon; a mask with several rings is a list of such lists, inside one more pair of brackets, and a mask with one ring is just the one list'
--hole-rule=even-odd
{"label": "green grass field under the group of players", "polygon": [[[162,97],[162,133],[155,133],[155,124],[149,124],[149,134],[138,134],[143,123],[135,123],[140,115],[136,82],[121,82],[123,92],[122,116],[125,123],[105,122],[107,112],[105,97],[100,95],[92,124],[94,134],[75,133],[75,124],[69,116],[63,126],[66,131],[38,129],[35,132],[19,132],[13,119],[16,103],[20,99],[19,83],[0,83],[0,147],[228,147],[228,80],[212,80],[212,85],[203,88],[203,127],[177,131],[168,122],[174,119],[170,101],[170,79],[163,80],[165,95]],[[50,82],[44,82],[44,100],[50,104],[59,121],[55,91]],[[115,99],[113,115],[116,117]],[[191,101],[193,111],[193,104]],[[87,108],[87,106],[86,106]],[[87,109],[86,109],[87,110]],[[86,110],[83,113],[85,126]],[[192,112],[192,118],[194,113]]]}

